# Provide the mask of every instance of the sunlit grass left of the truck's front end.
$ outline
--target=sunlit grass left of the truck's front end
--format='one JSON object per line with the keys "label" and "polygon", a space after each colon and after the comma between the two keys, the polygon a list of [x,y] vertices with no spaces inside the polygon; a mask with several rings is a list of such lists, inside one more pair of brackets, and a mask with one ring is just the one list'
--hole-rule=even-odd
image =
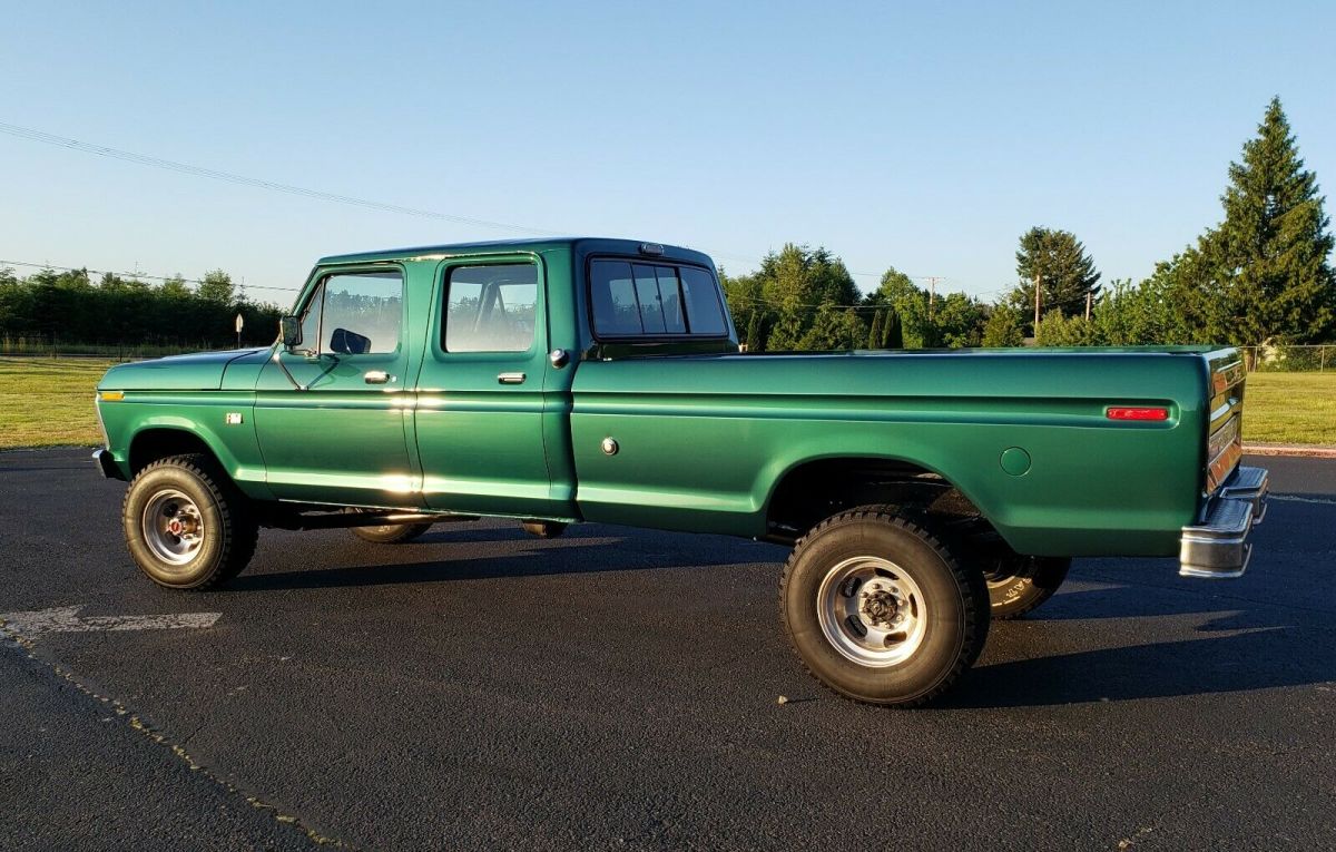
{"label": "sunlit grass left of the truck's front end", "polygon": [[92,358],[0,358],[0,449],[102,443],[92,395],[110,366]]}

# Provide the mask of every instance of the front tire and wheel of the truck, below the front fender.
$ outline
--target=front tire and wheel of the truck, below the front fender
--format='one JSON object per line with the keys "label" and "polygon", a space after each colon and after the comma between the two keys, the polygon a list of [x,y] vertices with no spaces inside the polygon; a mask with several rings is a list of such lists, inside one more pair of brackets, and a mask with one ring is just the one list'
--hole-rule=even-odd
{"label": "front tire and wheel of the truck, below the front fender", "polygon": [[211,458],[171,455],[126,490],[126,545],[139,569],[168,589],[207,589],[242,573],[259,526],[246,497]]}

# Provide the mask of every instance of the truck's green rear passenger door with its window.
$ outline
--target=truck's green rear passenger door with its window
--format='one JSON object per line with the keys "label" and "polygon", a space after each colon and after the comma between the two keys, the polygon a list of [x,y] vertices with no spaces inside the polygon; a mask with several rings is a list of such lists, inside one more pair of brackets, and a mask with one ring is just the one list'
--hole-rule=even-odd
{"label": "truck's green rear passenger door with its window", "polygon": [[418,375],[417,449],[432,509],[569,518],[553,487],[545,427],[565,430],[564,393],[548,401],[545,286],[537,255],[445,260]]}

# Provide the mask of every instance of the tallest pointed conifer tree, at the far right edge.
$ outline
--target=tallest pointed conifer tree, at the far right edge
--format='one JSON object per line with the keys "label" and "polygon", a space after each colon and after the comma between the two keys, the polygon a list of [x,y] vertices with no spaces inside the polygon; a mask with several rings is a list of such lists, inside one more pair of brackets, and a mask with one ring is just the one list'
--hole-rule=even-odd
{"label": "tallest pointed conifer tree, at the far right edge", "polygon": [[1304,170],[1280,97],[1230,163],[1225,220],[1197,251],[1209,274],[1208,337],[1234,343],[1324,341],[1336,330],[1331,220]]}

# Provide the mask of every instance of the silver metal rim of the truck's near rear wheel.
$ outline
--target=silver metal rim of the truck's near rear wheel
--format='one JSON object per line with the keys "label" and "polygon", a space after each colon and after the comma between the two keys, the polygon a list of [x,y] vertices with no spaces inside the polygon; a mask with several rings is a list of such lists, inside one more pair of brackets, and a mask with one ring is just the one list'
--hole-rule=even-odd
{"label": "silver metal rim of the truck's near rear wheel", "polygon": [[918,584],[874,556],[844,560],[826,574],[816,590],[816,617],[835,650],[870,668],[904,662],[927,632]]}

